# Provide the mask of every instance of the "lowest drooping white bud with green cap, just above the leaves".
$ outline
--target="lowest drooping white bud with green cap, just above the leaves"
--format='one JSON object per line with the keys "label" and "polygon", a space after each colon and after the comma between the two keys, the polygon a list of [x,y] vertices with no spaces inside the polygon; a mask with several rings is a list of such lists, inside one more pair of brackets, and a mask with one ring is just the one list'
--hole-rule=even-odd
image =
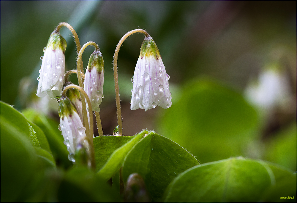
{"label": "lowest drooping white bud with green cap, just above the leaves", "polygon": [[[75,162],[74,156],[78,148],[82,146],[88,148],[85,142],[86,128],[83,126],[75,105],[67,97],[62,97],[60,100],[59,116],[59,128],[62,131],[64,144],[69,152],[68,159]],[[88,152],[88,149],[86,151]]]}

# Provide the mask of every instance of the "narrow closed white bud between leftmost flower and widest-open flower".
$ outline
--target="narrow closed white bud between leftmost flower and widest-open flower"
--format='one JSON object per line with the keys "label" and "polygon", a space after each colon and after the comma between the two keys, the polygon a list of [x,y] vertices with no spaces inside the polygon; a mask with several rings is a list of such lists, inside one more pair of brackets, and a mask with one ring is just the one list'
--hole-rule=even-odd
{"label": "narrow closed white bud between leftmost flower and widest-open flower", "polygon": [[104,61],[99,50],[95,50],[89,59],[85,75],[84,90],[90,98],[92,110],[99,112],[103,97]]}

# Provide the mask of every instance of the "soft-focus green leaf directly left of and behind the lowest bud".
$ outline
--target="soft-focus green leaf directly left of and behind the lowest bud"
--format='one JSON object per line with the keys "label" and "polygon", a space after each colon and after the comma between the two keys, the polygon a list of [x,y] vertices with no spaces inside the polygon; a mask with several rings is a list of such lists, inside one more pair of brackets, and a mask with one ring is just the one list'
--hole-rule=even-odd
{"label": "soft-focus green leaf directly left of and behind the lowest bud", "polygon": [[71,167],[72,162],[68,160],[69,153],[64,144],[64,138],[61,135],[61,131],[58,129],[59,123],[46,117],[42,113],[36,112],[34,109],[26,109],[23,111],[23,114],[28,120],[38,125],[45,133],[56,162],[64,168]]}

